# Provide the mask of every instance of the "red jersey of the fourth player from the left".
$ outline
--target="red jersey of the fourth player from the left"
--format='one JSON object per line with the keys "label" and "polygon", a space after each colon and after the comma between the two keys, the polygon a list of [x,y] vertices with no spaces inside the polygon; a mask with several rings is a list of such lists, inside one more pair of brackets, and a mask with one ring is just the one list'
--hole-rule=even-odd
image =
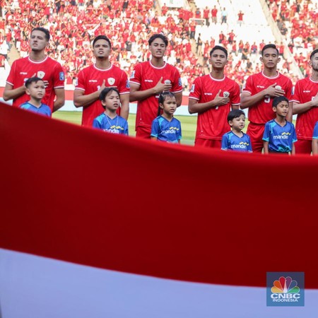
{"label": "red jersey of the fourth player from the left", "polygon": [[190,90],[189,99],[198,100],[199,103],[209,102],[216,98],[219,90],[221,90],[220,96],[224,96],[225,92],[230,93],[230,102],[198,114],[196,139],[221,140],[223,134],[230,130],[228,113],[231,105],[240,105],[240,86],[235,81],[227,76],[217,80],[211,74],[197,77]]}

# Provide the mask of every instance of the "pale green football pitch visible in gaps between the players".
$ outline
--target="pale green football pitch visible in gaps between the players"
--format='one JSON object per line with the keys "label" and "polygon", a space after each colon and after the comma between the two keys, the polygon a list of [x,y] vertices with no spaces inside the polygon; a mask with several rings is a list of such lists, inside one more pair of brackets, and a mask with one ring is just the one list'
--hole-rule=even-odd
{"label": "pale green football pitch visible in gaps between the players", "polygon": [[[57,111],[54,112],[53,118],[60,119],[65,122],[71,122],[72,124],[81,124],[82,112],[66,112]],[[196,116],[175,116],[181,122],[182,128],[182,141],[181,143],[187,145],[194,145],[194,136],[196,134]],[[135,136],[135,120],[136,114],[129,114],[129,136]],[[229,127],[230,130],[230,127]]]}

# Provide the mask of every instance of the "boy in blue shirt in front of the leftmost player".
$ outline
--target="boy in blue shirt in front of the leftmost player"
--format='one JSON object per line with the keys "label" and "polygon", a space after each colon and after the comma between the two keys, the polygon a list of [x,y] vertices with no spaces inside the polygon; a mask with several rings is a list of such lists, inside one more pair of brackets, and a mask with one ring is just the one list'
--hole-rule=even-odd
{"label": "boy in blue shirt in front of the leftmost player", "polygon": [[19,107],[23,110],[30,110],[37,114],[47,117],[52,116],[48,105],[42,104],[42,98],[45,95],[45,83],[40,77],[31,77],[25,81],[25,93],[30,96],[28,102],[24,102]]}

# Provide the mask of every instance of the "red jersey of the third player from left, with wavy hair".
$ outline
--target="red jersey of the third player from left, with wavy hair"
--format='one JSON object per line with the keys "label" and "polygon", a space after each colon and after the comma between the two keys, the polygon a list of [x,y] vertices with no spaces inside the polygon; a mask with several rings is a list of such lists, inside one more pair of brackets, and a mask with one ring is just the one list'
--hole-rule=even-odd
{"label": "red jersey of the third player from left, with wavy hair", "polygon": [[[136,64],[131,73],[130,83],[139,85],[139,90],[148,90],[157,85],[160,78],[163,77],[163,83],[170,81],[172,84],[171,92],[182,92],[182,81],[179,71],[170,64],[165,63],[163,67],[155,67],[151,61],[145,61]],[[136,128],[139,126],[151,129],[153,119],[158,114],[159,95],[152,95],[145,100],[139,100],[137,104]]]}

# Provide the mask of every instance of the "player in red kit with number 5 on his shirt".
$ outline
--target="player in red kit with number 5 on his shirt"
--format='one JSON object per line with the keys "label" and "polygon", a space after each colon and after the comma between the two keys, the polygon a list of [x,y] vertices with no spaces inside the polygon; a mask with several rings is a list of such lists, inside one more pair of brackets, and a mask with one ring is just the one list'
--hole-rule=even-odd
{"label": "player in red kit with number 5 on his shirt", "polygon": [[[261,50],[260,60],[264,64],[264,69],[247,78],[240,102],[242,109],[249,109],[247,134],[251,138],[254,153],[261,153],[265,124],[275,117],[271,107],[273,98],[285,96],[290,100],[293,90],[290,79],[277,71],[280,58],[276,45],[265,45]],[[293,119],[291,102],[286,119],[289,122]]]}

